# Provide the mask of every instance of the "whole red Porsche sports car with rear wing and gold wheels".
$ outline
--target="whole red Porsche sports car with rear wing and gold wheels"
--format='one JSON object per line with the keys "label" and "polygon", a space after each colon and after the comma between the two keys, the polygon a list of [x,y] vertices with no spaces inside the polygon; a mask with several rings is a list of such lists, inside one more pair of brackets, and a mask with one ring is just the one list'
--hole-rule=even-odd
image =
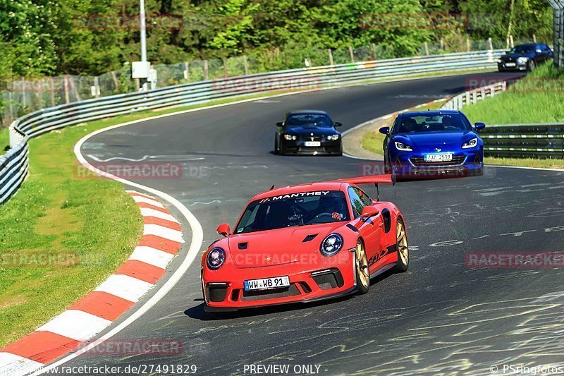
{"label": "whole red Porsche sports car with rear wing and gold wheels", "polygon": [[208,312],[312,302],[367,293],[370,279],[405,272],[405,220],[391,202],[372,200],[357,184],[395,176],[311,183],[256,195],[233,233],[228,224],[202,257]]}

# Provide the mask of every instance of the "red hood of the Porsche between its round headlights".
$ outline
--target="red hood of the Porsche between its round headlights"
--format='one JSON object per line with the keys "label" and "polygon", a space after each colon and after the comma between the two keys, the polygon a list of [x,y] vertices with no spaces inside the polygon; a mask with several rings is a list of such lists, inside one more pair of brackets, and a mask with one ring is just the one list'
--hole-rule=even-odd
{"label": "red hood of the Porsche between its round headlights", "polygon": [[[304,255],[319,253],[321,241],[347,223],[332,222],[231,235],[227,239],[231,260],[238,267],[263,267],[298,262],[303,260]],[[312,240],[305,241],[306,238]]]}

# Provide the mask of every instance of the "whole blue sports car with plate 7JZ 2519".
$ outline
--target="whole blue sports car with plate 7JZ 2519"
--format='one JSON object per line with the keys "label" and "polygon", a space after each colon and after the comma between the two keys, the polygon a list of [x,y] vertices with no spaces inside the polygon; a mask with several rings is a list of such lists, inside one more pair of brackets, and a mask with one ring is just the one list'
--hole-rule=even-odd
{"label": "whole blue sports car with plate 7JZ 2519", "polygon": [[399,114],[392,128],[384,127],[384,166],[398,177],[482,175],[484,142],[460,111]]}

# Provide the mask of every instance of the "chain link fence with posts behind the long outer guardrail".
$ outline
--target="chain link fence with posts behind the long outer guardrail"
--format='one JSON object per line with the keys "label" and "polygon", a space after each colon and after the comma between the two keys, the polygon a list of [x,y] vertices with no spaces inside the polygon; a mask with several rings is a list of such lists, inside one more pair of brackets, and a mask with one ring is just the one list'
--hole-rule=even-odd
{"label": "chain link fence with posts behind the long outer guardrail", "polygon": [[[549,37],[547,37],[549,38]],[[425,43],[411,51],[394,49],[389,44],[371,44],[363,47],[338,49],[272,49],[255,56],[235,56],[228,59],[185,61],[176,64],[160,64],[157,70],[157,88],[238,77],[269,71],[332,66],[359,61],[378,61],[409,56],[428,56],[467,51],[504,49],[513,44],[530,40],[470,40],[460,36],[455,40]],[[544,40],[542,40],[544,42]],[[541,40],[539,40],[541,42]],[[550,42],[550,40],[548,40]],[[97,77],[64,75],[51,78],[18,78],[4,82],[0,96],[0,126],[8,126],[19,116],[31,111],[77,102],[82,99],[106,97],[140,90],[139,80],[130,78],[130,64],[119,71]]]}

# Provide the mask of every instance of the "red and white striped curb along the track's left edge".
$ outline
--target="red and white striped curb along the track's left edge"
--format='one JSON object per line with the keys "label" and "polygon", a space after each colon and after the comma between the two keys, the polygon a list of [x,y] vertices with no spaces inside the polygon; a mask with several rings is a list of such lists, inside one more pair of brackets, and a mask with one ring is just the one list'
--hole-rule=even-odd
{"label": "red and white striped curb along the track's left edge", "polygon": [[143,216],[141,241],[106,281],[61,315],[0,349],[0,375],[26,375],[84,346],[152,289],[183,241],[180,224],[161,202],[128,190]]}

